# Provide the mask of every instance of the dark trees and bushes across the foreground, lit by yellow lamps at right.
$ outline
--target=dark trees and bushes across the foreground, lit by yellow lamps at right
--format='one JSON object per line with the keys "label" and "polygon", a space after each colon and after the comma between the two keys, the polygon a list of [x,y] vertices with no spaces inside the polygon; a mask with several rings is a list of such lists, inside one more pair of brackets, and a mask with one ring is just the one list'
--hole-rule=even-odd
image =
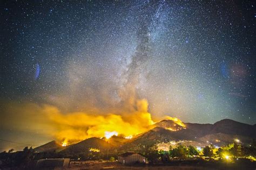
{"label": "dark trees and bushes across the foreground, lit by yellow lamps at right", "polygon": [[[203,162],[230,162],[234,163],[239,160],[248,160],[251,162],[256,161],[256,142],[255,140],[251,145],[244,146],[240,142],[234,142],[232,144],[217,147],[208,145],[205,147],[194,147],[194,146],[170,146],[169,151],[159,151],[156,145],[146,146],[139,145],[140,153],[144,154],[150,164],[169,164],[172,162],[183,161],[189,162],[190,164],[196,164],[198,161]],[[122,151],[123,152],[123,151]],[[33,150],[32,147],[25,147],[23,151],[9,150],[8,152],[0,153],[0,160],[4,167],[23,167],[25,168],[31,162],[38,159],[45,158],[70,158],[74,161],[84,160],[110,160],[114,161],[117,159],[117,150],[107,152],[97,152],[97,150],[90,150],[83,153],[61,153],[61,152],[43,152],[38,153]]]}

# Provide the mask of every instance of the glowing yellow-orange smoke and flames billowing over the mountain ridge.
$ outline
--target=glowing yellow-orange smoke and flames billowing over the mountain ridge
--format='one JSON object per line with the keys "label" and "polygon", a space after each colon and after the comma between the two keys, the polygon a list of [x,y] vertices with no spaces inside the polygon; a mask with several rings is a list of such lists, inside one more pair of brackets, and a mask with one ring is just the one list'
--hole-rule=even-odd
{"label": "glowing yellow-orange smoke and flames billowing over the mountain ridge", "polygon": [[[9,104],[8,110],[16,113],[19,111],[21,117],[28,117],[25,121],[15,121],[17,127],[25,127],[29,124],[31,131],[42,132],[59,141],[60,145],[68,146],[78,141],[91,137],[120,136],[131,139],[137,134],[144,133],[161,119],[153,121],[148,112],[147,100],[136,100],[131,108],[126,111],[115,111],[116,114],[100,114],[95,112],[67,112],[62,113],[57,107],[52,105],[38,105],[35,103]],[[127,111],[128,110],[128,111]],[[178,119],[166,117],[173,121],[174,125],[170,128],[185,128],[185,125]],[[13,120],[14,121],[14,120]],[[179,126],[181,125],[181,126]],[[44,129],[47,129],[45,131]]]}

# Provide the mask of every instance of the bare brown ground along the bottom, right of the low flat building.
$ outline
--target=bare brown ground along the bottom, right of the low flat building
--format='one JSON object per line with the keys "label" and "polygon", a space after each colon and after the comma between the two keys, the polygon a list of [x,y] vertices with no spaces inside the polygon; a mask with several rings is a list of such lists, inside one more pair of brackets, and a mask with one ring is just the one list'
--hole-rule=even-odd
{"label": "bare brown ground along the bottom, right of the low flat building", "polygon": [[256,162],[187,162],[175,161],[169,164],[123,165],[110,161],[71,161],[68,169],[256,169]]}

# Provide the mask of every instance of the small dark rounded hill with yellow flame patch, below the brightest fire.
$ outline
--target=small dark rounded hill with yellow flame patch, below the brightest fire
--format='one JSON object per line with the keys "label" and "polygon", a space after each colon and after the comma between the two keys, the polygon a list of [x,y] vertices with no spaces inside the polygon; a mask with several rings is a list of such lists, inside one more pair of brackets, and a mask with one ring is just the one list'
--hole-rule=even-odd
{"label": "small dark rounded hill with yellow flame patch, below the brightest fire", "polygon": [[107,143],[103,139],[99,138],[89,138],[83,141],[80,141],[77,144],[67,146],[64,150],[60,151],[62,153],[83,153],[83,152],[100,152],[106,151],[112,147],[111,144]]}

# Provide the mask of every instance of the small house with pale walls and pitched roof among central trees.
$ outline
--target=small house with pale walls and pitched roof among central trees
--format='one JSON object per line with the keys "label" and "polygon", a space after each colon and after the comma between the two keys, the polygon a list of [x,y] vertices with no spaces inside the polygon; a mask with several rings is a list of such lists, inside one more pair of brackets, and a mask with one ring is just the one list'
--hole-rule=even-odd
{"label": "small house with pale walls and pitched roof among central trees", "polygon": [[146,158],[139,152],[125,152],[118,155],[118,161],[122,164],[146,163]]}

